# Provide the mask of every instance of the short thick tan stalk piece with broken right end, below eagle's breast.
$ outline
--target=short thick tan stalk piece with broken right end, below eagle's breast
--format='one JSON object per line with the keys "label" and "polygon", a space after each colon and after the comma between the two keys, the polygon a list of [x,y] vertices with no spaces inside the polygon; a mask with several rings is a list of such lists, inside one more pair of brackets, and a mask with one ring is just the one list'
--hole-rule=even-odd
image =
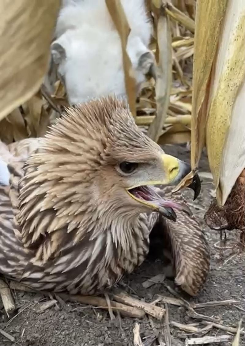
{"label": "short thick tan stalk piece with broken right end, below eagle's breast", "polygon": [[158,320],[161,320],[163,318],[163,315],[165,313],[165,310],[163,308],[160,308],[158,306],[154,306],[152,304],[142,302],[138,299],[135,299],[133,297],[130,297],[128,294],[124,292],[120,292],[118,294],[113,294],[113,298],[118,301],[119,303],[125,303],[130,306],[139,308],[144,310],[148,315],[151,315]]}

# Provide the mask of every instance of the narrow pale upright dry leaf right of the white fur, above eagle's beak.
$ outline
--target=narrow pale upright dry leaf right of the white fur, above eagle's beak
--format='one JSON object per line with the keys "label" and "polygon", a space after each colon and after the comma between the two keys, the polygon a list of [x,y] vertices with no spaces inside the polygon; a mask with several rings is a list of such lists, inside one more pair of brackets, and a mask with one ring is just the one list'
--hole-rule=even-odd
{"label": "narrow pale upright dry leaf right of the white fur, above eagle's beak", "polygon": [[157,142],[169,107],[172,85],[172,47],[170,21],[163,11],[157,22],[157,46],[159,50],[158,73],[156,79],[157,115],[148,129],[148,136]]}

